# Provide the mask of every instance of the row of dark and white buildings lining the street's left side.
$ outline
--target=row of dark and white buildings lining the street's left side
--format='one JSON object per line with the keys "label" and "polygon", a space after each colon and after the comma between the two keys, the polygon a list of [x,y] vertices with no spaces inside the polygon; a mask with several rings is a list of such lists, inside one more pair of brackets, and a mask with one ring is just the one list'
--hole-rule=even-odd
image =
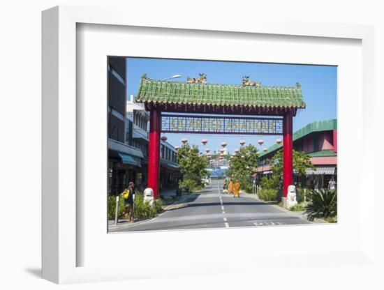
{"label": "row of dark and white buildings lining the street's left side", "polygon": [[[108,57],[109,195],[121,193],[131,181],[139,190],[148,184],[149,113],[126,95],[126,58]],[[181,178],[176,152],[161,141],[161,190],[177,188]]]}

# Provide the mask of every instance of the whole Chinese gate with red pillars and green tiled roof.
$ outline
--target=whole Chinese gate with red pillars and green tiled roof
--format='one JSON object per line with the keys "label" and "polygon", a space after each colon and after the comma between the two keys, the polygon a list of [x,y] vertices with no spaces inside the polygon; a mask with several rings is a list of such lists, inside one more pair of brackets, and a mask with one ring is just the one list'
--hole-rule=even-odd
{"label": "whole Chinese gate with red pillars and green tiled roof", "polygon": [[144,103],[150,112],[148,187],[154,190],[155,198],[159,196],[161,132],[283,135],[286,204],[288,186],[293,183],[293,116],[305,107],[300,84],[190,84],[144,75],[136,101]]}

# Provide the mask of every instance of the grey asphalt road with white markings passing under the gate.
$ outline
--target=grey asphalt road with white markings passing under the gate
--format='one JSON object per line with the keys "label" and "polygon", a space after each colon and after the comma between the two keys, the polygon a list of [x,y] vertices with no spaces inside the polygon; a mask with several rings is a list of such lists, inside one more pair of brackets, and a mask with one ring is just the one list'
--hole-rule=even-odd
{"label": "grey asphalt road with white markings passing under the gate", "polygon": [[158,231],[229,227],[263,227],[309,224],[291,213],[252,197],[223,194],[223,181],[212,181],[204,190],[147,222],[119,231]]}

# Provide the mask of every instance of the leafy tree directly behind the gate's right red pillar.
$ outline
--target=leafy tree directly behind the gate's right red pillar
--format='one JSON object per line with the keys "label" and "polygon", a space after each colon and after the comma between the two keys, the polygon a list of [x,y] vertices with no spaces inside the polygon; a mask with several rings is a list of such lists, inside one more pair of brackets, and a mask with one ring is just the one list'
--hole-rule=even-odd
{"label": "leafy tree directly behind the gate's right red pillar", "polygon": [[[272,178],[277,181],[278,187],[281,188],[283,184],[283,151],[277,151],[274,157],[269,159],[269,164],[272,169]],[[293,150],[293,170],[295,174],[300,177],[304,176],[307,174],[307,168],[315,169],[309,155]]]}

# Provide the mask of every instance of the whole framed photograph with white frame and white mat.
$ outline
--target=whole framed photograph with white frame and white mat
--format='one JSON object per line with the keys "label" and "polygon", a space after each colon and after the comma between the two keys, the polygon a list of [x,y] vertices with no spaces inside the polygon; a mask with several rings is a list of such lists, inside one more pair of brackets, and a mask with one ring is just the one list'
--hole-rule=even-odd
{"label": "whole framed photograph with white frame and white mat", "polygon": [[373,28],[127,14],[43,12],[43,277],[375,267]]}

